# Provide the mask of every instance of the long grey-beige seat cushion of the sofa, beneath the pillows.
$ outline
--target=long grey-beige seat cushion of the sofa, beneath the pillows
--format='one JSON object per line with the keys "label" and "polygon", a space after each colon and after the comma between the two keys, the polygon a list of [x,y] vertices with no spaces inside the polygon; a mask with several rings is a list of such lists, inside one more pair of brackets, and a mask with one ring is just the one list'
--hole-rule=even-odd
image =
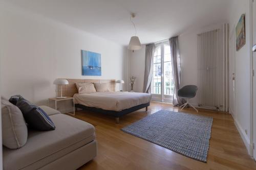
{"label": "long grey-beige seat cushion of the sofa, beneath the pillows", "polygon": [[54,131],[29,131],[24,147],[3,148],[4,169],[37,169],[95,139],[94,126],[89,123],[65,114],[50,117],[56,126]]}

